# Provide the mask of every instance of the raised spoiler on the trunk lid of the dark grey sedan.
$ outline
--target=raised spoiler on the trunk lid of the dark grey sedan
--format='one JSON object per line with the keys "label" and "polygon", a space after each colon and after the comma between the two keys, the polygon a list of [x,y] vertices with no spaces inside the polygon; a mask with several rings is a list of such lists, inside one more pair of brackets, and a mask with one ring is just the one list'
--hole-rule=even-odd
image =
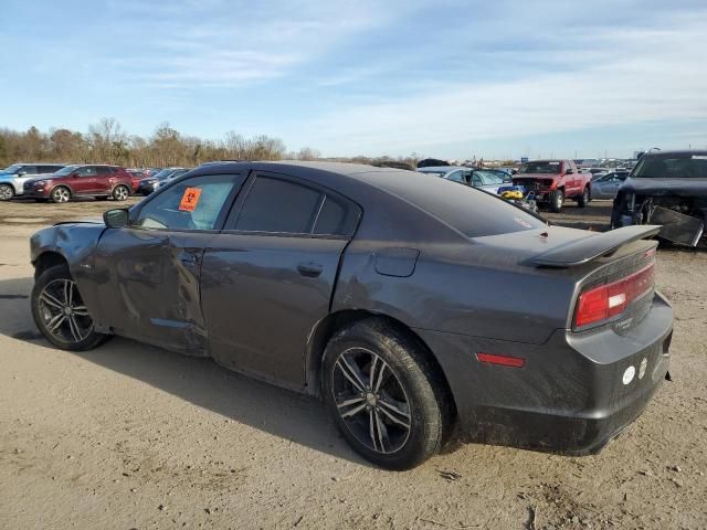
{"label": "raised spoiler on the trunk lid of the dark grey sedan", "polygon": [[651,237],[659,231],[659,225],[644,224],[624,226],[609,232],[597,232],[590,237],[572,241],[538,254],[526,263],[536,267],[574,267],[610,254],[627,243]]}

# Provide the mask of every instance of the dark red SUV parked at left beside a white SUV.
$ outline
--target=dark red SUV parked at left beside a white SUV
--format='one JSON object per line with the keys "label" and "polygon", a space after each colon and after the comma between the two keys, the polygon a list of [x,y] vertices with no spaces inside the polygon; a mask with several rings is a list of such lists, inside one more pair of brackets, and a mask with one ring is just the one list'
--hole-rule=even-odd
{"label": "dark red SUV parked at left beside a white SUV", "polygon": [[66,166],[64,169],[24,182],[24,195],[52,202],[68,202],[74,197],[95,197],[125,201],[130,197],[133,179],[118,166]]}

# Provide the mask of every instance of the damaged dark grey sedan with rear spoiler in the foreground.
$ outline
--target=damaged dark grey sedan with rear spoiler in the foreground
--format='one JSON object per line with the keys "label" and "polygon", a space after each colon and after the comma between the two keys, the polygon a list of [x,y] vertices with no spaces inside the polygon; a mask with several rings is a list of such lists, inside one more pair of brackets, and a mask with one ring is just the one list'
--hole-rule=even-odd
{"label": "damaged dark grey sedan with rear spoiler in the foreground", "polygon": [[34,234],[32,314],[59,348],[120,335],[318,395],[388,468],[456,424],[587,454],[667,372],[656,231],[548,226],[412,171],[210,163],[104,223]]}

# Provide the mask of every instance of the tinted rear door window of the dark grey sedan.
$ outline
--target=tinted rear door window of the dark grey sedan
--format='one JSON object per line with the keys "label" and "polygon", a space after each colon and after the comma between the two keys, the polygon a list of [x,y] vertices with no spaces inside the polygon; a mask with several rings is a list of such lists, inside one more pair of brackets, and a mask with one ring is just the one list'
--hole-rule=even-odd
{"label": "tinted rear door window of the dark grey sedan", "polygon": [[359,208],[335,193],[257,176],[235,221],[235,230],[287,234],[352,235]]}

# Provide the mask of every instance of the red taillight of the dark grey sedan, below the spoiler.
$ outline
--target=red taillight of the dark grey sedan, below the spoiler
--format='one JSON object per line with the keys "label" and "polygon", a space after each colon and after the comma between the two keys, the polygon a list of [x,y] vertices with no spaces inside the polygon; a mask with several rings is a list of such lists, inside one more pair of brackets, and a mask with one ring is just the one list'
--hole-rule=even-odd
{"label": "red taillight of the dark grey sedan, below the spoiler", "polygon": [[636,298],[641,298],[655,284],[655,264],[611,284],[600,285],[579,295],[574,327],[606,320],[625,311]]}

